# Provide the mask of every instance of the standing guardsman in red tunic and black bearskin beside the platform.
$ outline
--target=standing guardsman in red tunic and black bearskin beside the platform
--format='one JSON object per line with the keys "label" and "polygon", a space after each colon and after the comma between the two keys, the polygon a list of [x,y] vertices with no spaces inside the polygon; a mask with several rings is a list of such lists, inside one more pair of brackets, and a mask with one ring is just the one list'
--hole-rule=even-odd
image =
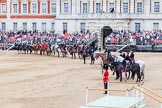
{"label": "standing guardsman in red tunic and black bearskin beside the platform", "polygon": [[[105,72],[103,74],[104,89],[108,88],[108,81],[109,81],[109,72],[108,72],[108,66],[107,66],[105,67]],[[105,91],[104,94],[107,94],[107,91]]]}

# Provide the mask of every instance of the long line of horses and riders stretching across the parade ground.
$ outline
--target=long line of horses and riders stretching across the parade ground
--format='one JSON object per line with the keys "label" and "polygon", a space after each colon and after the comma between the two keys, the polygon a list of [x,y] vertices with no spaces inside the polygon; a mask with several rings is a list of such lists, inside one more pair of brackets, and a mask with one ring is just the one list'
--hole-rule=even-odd
{"label": "long line of horses and riders stretching across the parade ground", "polygon": [[[104,53],[100,50],[97,51],[96,46],[90,46],[87,44],[74,44],[73,46],[67,46],[65,44],[55,44],[53,46],[49,46],[48,43],[37,43],[33,44],[32,46],[28,44],[17,44],[15,48],[17,49],[18,53],[22,53],[22,51],[24,51],[25,54],[29,51],[31,54],[32,51],[34,51],[34,54],[40,53],[40,55],[55,56],[57,52],[58,57],[66,57],[66,55],[69,53],[72,59],[76,59],[78,55],[78,59],[83,58],[84,64],[86,63],[87,57],[91,58],[91,64],[94,64],[95,58],[100,57],[102,72],[105,68],[105,65],[107,65],[112,71],[114,71],[114,73],[116,73],[116,79],[120,78],[120,81],[122,81],[122,68],[125,67],[125,81],[129,79],[130,72],[132,72],[132,79],[134,79],[135,75],[137,74],[136,82],[144,80],[145,63],[143,61],[137,60],[134,63],[130,64],[130,61],[125,60],[125,58],[123,58],[122,56],[112,56],[111,53],[106,53],[106,50],[104,51]],[[123,61],[126,61],[126,66],[124,66]]]}

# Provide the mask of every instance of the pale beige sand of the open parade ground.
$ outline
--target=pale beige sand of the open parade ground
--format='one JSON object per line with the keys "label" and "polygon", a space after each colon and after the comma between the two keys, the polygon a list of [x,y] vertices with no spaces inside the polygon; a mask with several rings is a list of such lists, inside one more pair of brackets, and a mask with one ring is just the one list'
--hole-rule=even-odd
{"label": "pale beige sand of the open parade ground", "polygon": [[[162,53],[135,53],[135,59],[146,64],[144,86],[162,95]],[[111,71],[110,80],[115,81]],[[90,65],[89,59],[83,64],[70,57],[0,51],[0,108],[79,108],[85,104],[86,87],[103,88],[99,60]],[[111,87],[128,89],[122,84]],[[102,96],[103,92],[93,91],[89,99]],[[145,101],[150,108],[160,108],[149,97]]]}

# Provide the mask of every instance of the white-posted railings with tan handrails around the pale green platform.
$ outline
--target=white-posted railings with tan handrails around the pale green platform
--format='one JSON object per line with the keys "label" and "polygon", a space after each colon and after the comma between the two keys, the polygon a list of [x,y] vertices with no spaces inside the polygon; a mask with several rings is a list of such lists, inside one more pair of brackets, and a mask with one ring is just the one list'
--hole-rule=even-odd
{"label": "white-posted railings with tan handrails around the pale green platform", "polygon": [[[126,90],[123,90],[123,89],[110,89],[110,84],[128,84],[128,85],[137,85],[136,87],[132,87],[131,89],[126,89]],[[144,82],[141,82],[141,83],[136,83],[136,82],[109,82],[108,83],[108,89],[99,89],[99,88],[86,88],[86,106],[88,105],[88,93],[89,93],[89,90],[90,91],[107,91],[109,95],[109,92],[120,92],[120,93],[125,93],[126,96],[128,96],[129,92],[132,93],[132,97],[141,97],[142,100],[140,101],[141,105],[143,105],[143,99],[144,99],[144,95],[147,96],[147,97],[150,97],[152,100],[160,103],[161,107],[162,108],[162,96],[155,93],[154,91],[151,91],[150,89],[146,88],[143,86],[144,85]],[[92,107],[92,106],[91,106]],[[96,106],[95,106],[96,107]],[[100,106],[101,107],[101,106]],[[105,108],[105,106],[104,106]]]}

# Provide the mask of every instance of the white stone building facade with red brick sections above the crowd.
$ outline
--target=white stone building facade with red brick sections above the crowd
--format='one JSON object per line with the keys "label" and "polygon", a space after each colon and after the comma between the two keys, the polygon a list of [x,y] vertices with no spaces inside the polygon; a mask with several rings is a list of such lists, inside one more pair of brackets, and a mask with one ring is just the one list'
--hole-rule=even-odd
{"label": "white stone building facade with red brick sections above the crowd", "polygon": [[0,30],[161,30],[162,0],[1,0]]}

